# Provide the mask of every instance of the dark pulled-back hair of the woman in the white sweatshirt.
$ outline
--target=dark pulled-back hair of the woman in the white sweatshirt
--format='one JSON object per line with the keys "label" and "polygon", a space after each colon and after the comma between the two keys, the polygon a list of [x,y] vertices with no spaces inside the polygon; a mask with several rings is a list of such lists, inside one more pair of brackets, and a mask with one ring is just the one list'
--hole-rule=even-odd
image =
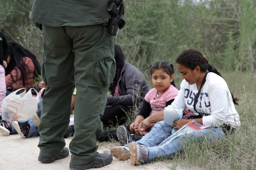
{"label": "dark pulled-back hair of the woman in the white sweatshirt", "polygon": [[[222,77],[217,69],[213,68],[211,66],[211,64],[208,64],[207,59],[204,58],[203,54],[200,51],[197,51],[197,50],[192,49],[192,48],[184,50],[176,58],[176,63],[181,64],[184,67],[187,67],[191,70],[194,70],[195,67],[199,66],[202,71],[207,71],[208,70],[209,72],[214,72],[215,74]],[[232,93],[231,93],[231,96],[232,96],[233,103],[238,105],[238,103],[237,103],[238,98],[234,97]]]}

